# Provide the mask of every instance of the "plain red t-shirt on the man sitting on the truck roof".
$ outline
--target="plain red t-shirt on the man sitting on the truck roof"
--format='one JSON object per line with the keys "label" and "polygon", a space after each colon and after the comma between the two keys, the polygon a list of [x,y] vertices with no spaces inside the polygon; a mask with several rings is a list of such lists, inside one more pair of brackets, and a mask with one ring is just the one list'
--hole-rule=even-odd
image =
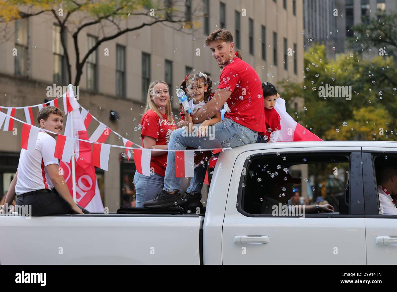
{"label": "plain red t-shirt on the man sitting on the truck roof", "polygon": [[231,111],[225,113],[225,118],[252,131],[266,131],[262,84],[254,68],[240,58],[233,58],[222,70],[218,88],[232,92],[227,99]]}

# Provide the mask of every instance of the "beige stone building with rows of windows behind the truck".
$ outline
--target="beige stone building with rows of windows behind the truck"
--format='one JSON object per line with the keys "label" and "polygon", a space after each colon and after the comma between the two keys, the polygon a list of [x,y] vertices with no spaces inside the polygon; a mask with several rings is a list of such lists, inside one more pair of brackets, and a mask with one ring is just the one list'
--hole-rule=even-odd
{"label": "beige stone building with rows of windows behind the truck", "polygon": [[[233,33],[243,60],[256,69],[260,81],[276,84],[283,79],[302,80],[302,0],[187,0],[179,9],[188,13],[201,10],[208,20],[193,19],[201,23],[194,30],[178,32],[156,24],[126,33],[101,44],[83,68],[80,104],[123,137],[142,145],[137,127],[151,81],[164,79],[175,92],[190,70],[219,80],[220,70],[204,40],[208,33],[220,27]],[[131,17],[121,27],[143,21],[143,17]],[[53,99],[47,97],[47,87],[54,83],[67,85],[59,28],[54,18],[51,14],[40,14],[12,25],[15,27],[12,37],[0,36],[0,106],[28,106]],[[83,29],[78,39],[81,54],[102,34],[100,26]],[[76,57],[72,37],[66,36],[73,80]],[[13,55],[14,48],[17,56]],[[292,56],[288,55],[289,51],[293,51]],[[173,102],[176,107],[176,99]],[[301,106],[301,102],[293,106]],[[111,111],[117,112],[119,118],[112,120]],[[16,117],[25,120],[23,110],[16,110]],[[89,134],[96,126],[98,123],[93,121]],[[0,131],[0,191],[8,189],[17,168],[21,125],[15,122],[15,127],[16,136],[12,131]],[[106,143],[122,145],[122,140],[111,134]],[[112,148],[109,170],[97,170],[104,206],[112,212],[120,207],[121,194],[128,189],[135,172],[134,163],[122,157],[122,153],[122,149]]]}

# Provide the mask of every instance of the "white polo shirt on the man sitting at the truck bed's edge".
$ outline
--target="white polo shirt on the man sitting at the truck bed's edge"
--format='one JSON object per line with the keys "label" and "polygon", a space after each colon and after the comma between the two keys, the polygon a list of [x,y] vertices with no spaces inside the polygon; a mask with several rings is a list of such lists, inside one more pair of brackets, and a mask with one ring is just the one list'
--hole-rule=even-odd
{"label": "white polo shirt on the man sitting at the truck bed's edge", "polygon": [[21,149],[18,162],[15,193],[21,195],[28,191],[52,190],[54,186],[47,173],[46,166],[59,164],[54,157],[56,141],[44,131],[37,136],[35,151]]}

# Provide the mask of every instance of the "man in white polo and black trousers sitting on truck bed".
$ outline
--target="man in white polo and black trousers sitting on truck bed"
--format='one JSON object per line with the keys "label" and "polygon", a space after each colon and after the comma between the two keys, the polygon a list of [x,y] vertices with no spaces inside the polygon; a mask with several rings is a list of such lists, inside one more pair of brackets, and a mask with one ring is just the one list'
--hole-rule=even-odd
{"label": "man in white polo and black trousers sitting on truck bed", "polygon": [[[37,114],[40,128],[61,133],[64,112],[54,106],[45,106]],[[87,210],[75,204],[65,180],[59,174],[58,159],[54,158],[55,134],[39,132],[34,151],[21,149],[17,172],[11,182],[5,203],[31,206],[32,216],[55,214],[83,214]]]}

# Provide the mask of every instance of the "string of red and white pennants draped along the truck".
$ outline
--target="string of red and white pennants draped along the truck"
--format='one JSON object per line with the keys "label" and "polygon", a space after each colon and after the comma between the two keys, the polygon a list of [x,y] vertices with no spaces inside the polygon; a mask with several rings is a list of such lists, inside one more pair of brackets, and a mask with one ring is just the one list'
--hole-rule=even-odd
{"label": "string of red and white pennants draped along the truck", "polygon": [[[69,96],[69,92],[72,93]],[[170,150],[170,149],[146,149],[142,148],[142,146],[137,145],[137,147],[131,147],[134,145],[132,141],[123,138],[123,145],[112,145],[104,143],[109,136],[110,132],[114,132],[116,135],[121,137],[116,131],[111,130],[105,124],[100,122],[97,118],[91,115],[88,110],[80,106],[80,104],[73,98],[73,91],[68,91],[63,96],[64,100],[64,109],[65,113],[69,113],[75,109],[81,108],[81,117],[84,121],[85,128],[88,129],[92,120],[96,120],[99,123],[99,126],[93,132],[93,134],[89,137],[89,140],[79,139],[76,137],[66,136],[54,133],[49,130],[38,128],[34,125],[33,107],[39,107],[39,109],[50,105],[58,107],[58,98],[46,102],[45,104],[37,104],[34,106],[21,106],[21,107],[6,107],[0,106],[1,108],[7,108],[7,114],[0,112],[0,128],[3,127],[3,131],[12,131],[13,130],[13,121],[17,121],[23,124],[22,126],[22,134],[21,134],[21,148],[27,151],[34,151],[35,145],[37,141],[37,136],[40,131],[46,131],[48,133],[52,133],[57,135],[56,139],[56,147],[54,151],[54,157],[60,159],[61,161],[70,163],[72,153],[74,151],[75,141],[82,141],[85,143],[90,143],[93,145],[93,158],[94,158],[94,166],[102,168],[103,170],[108,170],[108,162],[110,155],[110,148],[123,148],[127,154],[128,160],[131,158],[131,152],[129,149],[133,150],[133,158],[135,161],[135,166],[137,171],[145,176],[150,176],[150,159],[151,159],[151,151],[164,151],[164,152],[175,152],[175,171],[176,177],[193,177],[194,176],[194,152],[195,151],[212,151],[212,153],[216,154],[224,150],[229,150],[228,148],[216,148],[216,149],[186,149],[186,150]],[[17,118],[15,118],[15,110],[16,109],[24,109],[26,122],[23,122]],[[77,158],[76,158],[77,159]],[[216,162],[216,157],[210,160],[209,168],[213,167]],[[212,164],[212,165],[211,165]],[[204,180],[206,184],[208,184],[208,171],[206,173],[206,178]]]}

